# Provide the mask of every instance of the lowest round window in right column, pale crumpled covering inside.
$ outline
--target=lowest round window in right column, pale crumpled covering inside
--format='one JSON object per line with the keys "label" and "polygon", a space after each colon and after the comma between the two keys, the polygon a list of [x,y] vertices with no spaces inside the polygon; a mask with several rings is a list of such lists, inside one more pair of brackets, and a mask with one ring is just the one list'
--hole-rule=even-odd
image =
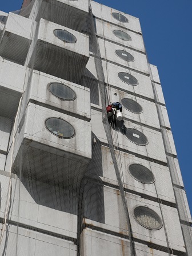
{"label": "lowest round window in right column, pale crumpled covering inside", "polygon": [[159,215],[146,206],[135,207],[134,218],[141,226],[147,229],[158,230],[163,226]]}

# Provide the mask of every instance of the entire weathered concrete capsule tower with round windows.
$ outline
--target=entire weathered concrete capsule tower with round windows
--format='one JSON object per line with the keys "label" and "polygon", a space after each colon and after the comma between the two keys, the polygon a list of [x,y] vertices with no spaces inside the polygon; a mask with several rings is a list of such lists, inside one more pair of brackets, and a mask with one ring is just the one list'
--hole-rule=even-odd
{"label": "entire weathered concrete capsule tower with round windows", "polygon": [[[0,254],[192,255],[139,19],[88,0],[0,11]],[[123,119],[109,123],[106,106]]]}

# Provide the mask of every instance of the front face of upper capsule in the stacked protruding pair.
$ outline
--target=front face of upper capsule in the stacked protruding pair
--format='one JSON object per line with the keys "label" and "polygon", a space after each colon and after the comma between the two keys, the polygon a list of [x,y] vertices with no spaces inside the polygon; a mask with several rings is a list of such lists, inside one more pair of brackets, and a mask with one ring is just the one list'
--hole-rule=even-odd
{"label": "front face of upper capsule in the stacked protruding pair", "polygon": [[[63,101],[48,90],[50,83],[62,83],[72,89],[76,98],[74,101]],[[26,102],[30,99],[43,103],[44,105],[50,105],[50,107],[57,107],[58,109],[65,110],[67,114],[73,113],[81,115],[82,118],[86,117],[90,120],[90,90],[81,85],[71,83],[69,81],[41,73],[37,70],[33,71],[33,75],[29,85],[30,89],[27,89],[27,95],[25,95]]]}

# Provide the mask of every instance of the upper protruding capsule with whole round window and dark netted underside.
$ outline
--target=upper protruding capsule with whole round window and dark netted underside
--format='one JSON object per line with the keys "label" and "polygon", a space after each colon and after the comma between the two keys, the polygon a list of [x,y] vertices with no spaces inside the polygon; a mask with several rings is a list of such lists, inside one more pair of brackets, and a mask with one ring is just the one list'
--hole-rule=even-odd
{"label": "upper protruding capsule with whole round window and dark netted underside", "polygon": [[[54,35],[55,29],[68,31],[75,36],[77,42],[63,42]],[[89,59],[89,37],[41,19],[28,57],[27,66],[67,81],[78,82]]]}

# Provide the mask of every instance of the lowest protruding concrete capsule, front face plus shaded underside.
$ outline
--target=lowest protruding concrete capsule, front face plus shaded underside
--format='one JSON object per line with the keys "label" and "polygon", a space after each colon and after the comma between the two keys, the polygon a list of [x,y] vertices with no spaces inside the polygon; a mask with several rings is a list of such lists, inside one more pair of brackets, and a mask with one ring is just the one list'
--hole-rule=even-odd
{"label": "lowest protruding concrete capsule, front face plus shaded underside", "polygon": [[[61,138],[59,131],[59,136],[51,133],[45,125],[49,118],[68,122],[74,128],[74,137]],[[65,183],[66,186],[70,182],[77,186],[91,159],[91,125],[82,119],[29,103],[26,113],[19,119],[15,136],[14,173],[19,171],[21,154],[24,154],[24,176],[30,173],[40,181]]]}

